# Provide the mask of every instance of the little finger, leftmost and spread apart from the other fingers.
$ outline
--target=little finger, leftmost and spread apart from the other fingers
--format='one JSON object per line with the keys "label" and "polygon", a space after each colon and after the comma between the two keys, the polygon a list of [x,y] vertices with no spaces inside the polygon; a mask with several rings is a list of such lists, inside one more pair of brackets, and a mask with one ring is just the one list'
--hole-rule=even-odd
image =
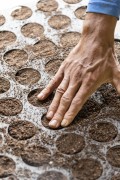
{"label": "little finger, leftmost and spread apart from the other fingers", "polygon": [[64,77],[62,66],[59,68],[58,72],[54,76],[54,78],[49,82],[45,89],[43,89],[40,94],[38,94],[39,100],[46,99],[61,83]]}

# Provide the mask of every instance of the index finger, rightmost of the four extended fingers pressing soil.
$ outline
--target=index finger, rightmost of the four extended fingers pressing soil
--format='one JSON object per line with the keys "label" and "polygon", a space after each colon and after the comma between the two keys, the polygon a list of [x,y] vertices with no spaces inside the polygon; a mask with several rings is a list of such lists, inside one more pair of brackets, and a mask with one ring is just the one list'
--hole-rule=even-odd
{"label": "index finger, rightmost of the four extended fingers pressing soil", "polygon": [[88,97],[94,92],[94,90],[91,88],[91,86],[87,86],[87,84],[85,83],[82,84],[76,96],[74,97],[68,111],[65,113],[64,118],[61,122],[61,126],[66,127],[73,121],[75,116],[82,109],[82,106],[84,105]]}

